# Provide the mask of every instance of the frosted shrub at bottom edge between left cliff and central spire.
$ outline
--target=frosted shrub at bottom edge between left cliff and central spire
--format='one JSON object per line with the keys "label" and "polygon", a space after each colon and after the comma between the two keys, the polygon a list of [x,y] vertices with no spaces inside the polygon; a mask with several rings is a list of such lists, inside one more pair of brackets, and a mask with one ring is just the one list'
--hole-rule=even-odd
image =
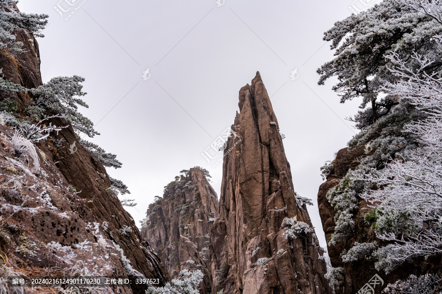
{"label": "frosted shrub at bottom edge between left cliff and central spire", "polygon": [[180,279],[173,279],[164,287],[149,287],[146,294],[199,294],[198,285],[203,279],[201,270],[182,270]]}

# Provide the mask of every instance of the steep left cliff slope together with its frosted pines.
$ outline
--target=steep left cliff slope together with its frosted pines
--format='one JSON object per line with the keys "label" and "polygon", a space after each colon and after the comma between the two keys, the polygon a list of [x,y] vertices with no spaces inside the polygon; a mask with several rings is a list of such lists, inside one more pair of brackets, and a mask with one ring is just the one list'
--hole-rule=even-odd
{"label": "steep left cliff slope together with its frosted pines", "polygon": [[[10,287],[10,275],[141,276],[164,286],[166,269],[116,197],[114,189],[124,192],[124,184],[104,167],[121,163],[80,144],[81,134],[98,134],[78,111],[87,106],[83,78],[42,83],[34,36],[47,16],[19,12],[17,2],[0,1],[0,292],[47,290]],[[118,293],[145,289],[131,285]]]}

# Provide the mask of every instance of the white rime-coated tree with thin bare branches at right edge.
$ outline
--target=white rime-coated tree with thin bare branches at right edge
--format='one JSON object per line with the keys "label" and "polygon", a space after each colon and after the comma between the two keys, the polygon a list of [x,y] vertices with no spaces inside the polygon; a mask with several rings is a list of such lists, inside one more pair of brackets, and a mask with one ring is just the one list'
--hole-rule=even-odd
{"label": "white rime-coated tree with thin bare branches at right edge", "polygon": [[432,66],[426,57],[413,56],[418,70],[398,54],[389,59],[399,81],[385,90],[428,116],[405,127],[418,147],[397,153],[384,169],[360,177],[378,187],[362,198],[375,207],[376,236],[390,242],[373,253],[376,268],[386,272],[415,257],[442,255],[442,81],[426,71]]}

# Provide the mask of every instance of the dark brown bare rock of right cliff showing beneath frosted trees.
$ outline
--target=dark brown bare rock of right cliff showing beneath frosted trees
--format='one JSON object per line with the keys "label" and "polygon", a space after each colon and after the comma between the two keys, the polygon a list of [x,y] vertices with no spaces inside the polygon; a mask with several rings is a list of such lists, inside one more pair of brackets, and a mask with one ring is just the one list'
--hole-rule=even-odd
{"label": "dark brown bare rock of right cliff showing beneath frosted trees", "polygon": [[336,153],[336,158],[332,162],[332,169],[329,171],[326,182],[319,187],[318,207],[322,226],[325,232],[328,252],[333,268],[342,268],[342,284],[335,287],[336,294],[354,294],[358,293],[368,281],[378,274],[384,281],[383,287],[377,286],[376,293],[380,293],[388,283],[394,283],[399,279],[406,279],[409,275],[421,275],[428,272],[437,272],[442,264],[441,258],[420,258],[411,263],[404,263],[396,270],[385,274],[384,271],[377,271],[374,263],[375,259],[360,259],[351,262],[343,262],[341,253],[349,250],[356,242],[370,243],[376,241],[379,245],[387,245],[386,242],[379,240],[370,224],[365,221],[365,215],[372,209],[366,201],[358,198],[359,203],[353,211],[353,220],[355,221],[353,232],[339,238],[335,245],[329,244],[331,236],[335,231],[335,210],[327,199],[328,191],[339,184],[349,170],[355,169],[359,165],[360,157],[366,156],[364,147],[355,146],[352,149],[343,148]]}

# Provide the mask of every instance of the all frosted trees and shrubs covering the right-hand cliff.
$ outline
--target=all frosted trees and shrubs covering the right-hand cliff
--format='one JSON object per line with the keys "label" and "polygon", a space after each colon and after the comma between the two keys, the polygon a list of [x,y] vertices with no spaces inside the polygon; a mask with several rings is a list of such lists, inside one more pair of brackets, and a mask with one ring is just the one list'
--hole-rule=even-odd
{"label": "all frosted trees and shrubs covering the right-hand cliff", "polygon": [[[327,193],[335,210],[329,247],[354,236],[363,203],[375,234],[341,248],[344,263],[374,258],[376,270],[388,273],[418,257],[442,256],[441,11],[439,1],[386,0],[325,33],[336,57],[318,70],[319,83],[337,75],[333,90],[341,102],[361,97],[363,108],[352,119],[360,132],[348,143],[350,150],[363,147],[359,164]],[[333,178],[335,164],[321,168],[324,178]],[[437,293],[441,270],[403,283],[431,280],[419,291]],[[405,293],[400,284],[388,293]]]}

